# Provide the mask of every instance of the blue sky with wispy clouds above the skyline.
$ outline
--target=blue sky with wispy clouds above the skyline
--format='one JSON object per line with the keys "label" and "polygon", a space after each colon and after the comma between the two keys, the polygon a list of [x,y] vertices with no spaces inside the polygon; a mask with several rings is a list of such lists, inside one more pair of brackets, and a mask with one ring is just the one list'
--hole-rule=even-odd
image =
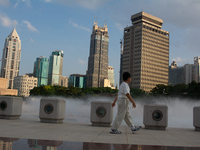
{"label": "blue sky with wispy clouds above the skyline", "polygon": [[33,71],[37,57],[64,51],[63,76],[85,74],[94,18],[107,20],[109,65],[119,80],[120,39],[131,15],[145,11],[163,19],[170,32],[169,64],[193,63],[200,56],[199,0],[0,0],[0,59],[5,38],[16,30],[22,41],[20,75]]}

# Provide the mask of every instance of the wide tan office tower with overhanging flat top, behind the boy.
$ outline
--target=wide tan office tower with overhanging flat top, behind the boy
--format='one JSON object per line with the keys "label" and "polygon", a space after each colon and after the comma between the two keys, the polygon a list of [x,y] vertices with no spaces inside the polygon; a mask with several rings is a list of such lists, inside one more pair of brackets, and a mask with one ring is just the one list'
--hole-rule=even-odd
{"label": "wide tan office tower with overhanging flat top, behind the boy", "polygon": [[163,20],[140,12],[131,16],[132,26],[124,28],[123,68],[130,72],[130,87],[147,92],[157,84],[168,84],[169,32]]}

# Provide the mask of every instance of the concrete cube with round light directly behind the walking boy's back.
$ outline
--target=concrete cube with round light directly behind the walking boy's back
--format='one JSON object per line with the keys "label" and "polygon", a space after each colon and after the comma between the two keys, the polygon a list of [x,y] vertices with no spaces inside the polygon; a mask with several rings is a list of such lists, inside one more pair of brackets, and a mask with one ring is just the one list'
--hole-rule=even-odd
{"label": "concrete cube with round light directly behind the walking boy's back", "polygon": [[90,121],[93,126],[111,126],[113,121],[113,108],[110,101],[91,102]]}

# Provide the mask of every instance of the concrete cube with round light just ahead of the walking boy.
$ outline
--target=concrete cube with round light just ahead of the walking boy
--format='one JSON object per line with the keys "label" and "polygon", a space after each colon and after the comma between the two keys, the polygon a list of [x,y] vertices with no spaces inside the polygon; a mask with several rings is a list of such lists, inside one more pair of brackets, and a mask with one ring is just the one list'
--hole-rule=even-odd
{"label": "concrete cube with round light just ahead of the walking boy", "polygon": [[168,107],[166,105],[144,105],[143,123],[146,129],[166,130]]}

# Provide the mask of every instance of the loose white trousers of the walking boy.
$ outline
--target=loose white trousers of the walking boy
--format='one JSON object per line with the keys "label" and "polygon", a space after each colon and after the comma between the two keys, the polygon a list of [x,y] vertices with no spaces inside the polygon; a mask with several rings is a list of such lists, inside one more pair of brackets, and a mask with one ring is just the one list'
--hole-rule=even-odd
{"label": "loose white trousers of the walking boy", "polygon": [[126,124],[131,127],[134,126],[133,120],[131,118],[131,115],[129,114],[129,100],[128,98],[118,98],[118,110],[117,110],[117,116],[115,117],[115,120],[113,122],[112,129],[118,129],[121,125],[122,121],[124,120]]}

